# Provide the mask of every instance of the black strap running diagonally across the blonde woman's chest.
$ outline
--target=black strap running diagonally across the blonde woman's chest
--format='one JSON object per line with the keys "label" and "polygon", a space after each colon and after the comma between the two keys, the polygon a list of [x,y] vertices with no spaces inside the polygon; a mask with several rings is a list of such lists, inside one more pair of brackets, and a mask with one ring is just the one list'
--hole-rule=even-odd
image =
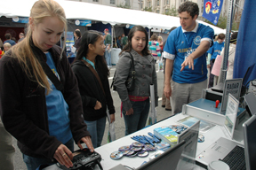
{"label": "black strap running diagonally across the blonde woman's chest", "polygon": [[40,56],[37,56],[36,54],[35,54],[35,56],[38,59],[38,61],[39,61],[40,65],[42,66],[42,68],[44,69],[44,73],[46,73],[48,78],[52,81],[52,83],[54,84],[55,88],[60,90],[60,91],[62,89],[64,89],[63,84],[56,77],[55,73],[52,72],[52,69],[50,68],[50,66],[47,65],[47,63],[44,61],[44,59],[41,58]]}

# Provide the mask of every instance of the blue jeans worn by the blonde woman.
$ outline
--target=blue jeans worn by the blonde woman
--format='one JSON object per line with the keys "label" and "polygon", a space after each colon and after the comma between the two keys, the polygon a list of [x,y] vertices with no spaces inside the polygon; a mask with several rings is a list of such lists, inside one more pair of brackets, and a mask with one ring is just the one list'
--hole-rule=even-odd
{"label": "blue jeans worn by the blonde woman", "polygon": [[[65,145],[68,147],[70,151],[74,151],[74,140],[73,138],[68,141],[68,143],[65,143]],[[28,155],[23,155],[23,161],[25,162],[28,170],[36,170],[36,168],[40,165],[52,165],[56,162],[54,160],[51,160],[49,158],[35,158],[30,157]]]}

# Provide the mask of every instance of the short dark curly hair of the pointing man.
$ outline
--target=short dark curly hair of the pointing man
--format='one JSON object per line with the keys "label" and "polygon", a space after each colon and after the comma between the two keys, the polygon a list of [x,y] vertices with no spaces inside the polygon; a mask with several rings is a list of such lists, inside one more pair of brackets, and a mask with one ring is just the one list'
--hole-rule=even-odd
{"label": "short dark curly hair of the pointing man", "polygon": [[193,3],[191,1],[187,1],[185,3],[180,4],[180,7],[178,9],[178,12],[188,12],[189,15],[192,17],[192,19],[195,17],[195,15],[199,15],[199,8],[196,3]]}

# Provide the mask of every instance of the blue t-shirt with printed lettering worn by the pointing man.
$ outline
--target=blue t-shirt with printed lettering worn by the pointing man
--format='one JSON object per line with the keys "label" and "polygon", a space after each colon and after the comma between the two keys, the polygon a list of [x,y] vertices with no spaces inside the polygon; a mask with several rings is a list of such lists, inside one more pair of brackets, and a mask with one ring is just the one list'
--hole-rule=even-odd
{"label": "blue t-shirt with printed lettering worn by the pointing man", "polygon": [[[174,29],[167,38],[164,51],[174,55],[172,80],[178,83],[196,83],[207,79],[206,53],[194,59],[194,70],[186,66],[180,72],[181,64],[190,53],[196,50],[203,38],[211,39],[212,27],[197,23],[196,32],[184,32],[181,27]],[[206,41],[206,40],[205,40]]]}

